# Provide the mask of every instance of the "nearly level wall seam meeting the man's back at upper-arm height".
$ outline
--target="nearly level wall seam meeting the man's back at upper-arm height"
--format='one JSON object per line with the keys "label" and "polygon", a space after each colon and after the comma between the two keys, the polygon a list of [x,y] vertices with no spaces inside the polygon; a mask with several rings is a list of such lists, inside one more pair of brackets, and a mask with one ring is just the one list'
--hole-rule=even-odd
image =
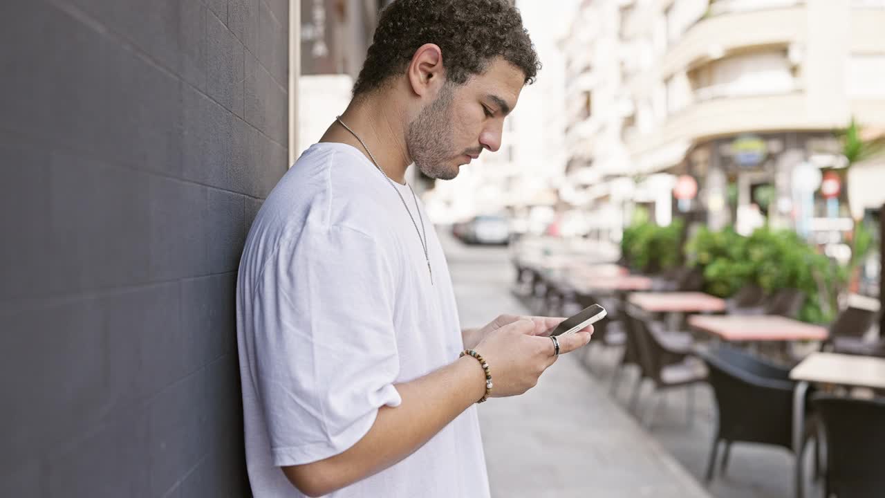
{"label": "nearly level wall seam meeting the man's back at upper-arm height", "polygon": [[67,292],[61,294],[48,294],[39,297],[5,300],[3,302],[0,302],[0,317],[16,315],[19,313],[35,312],[50,307],[75,304],[81,300],[101,300],[112,298],[114,296],[125,294],[127,292],[147,291],[150,290],[150,288],[152,287],[161,287],[170,284],[181,285],[189,281],[199,280],[201,278],[210,278],[212,276],[237,276],[238,273],[238,270],[222,271],[198,276],[185,276],[181,278],[167,280],[153,280],[150,282],[118,287],[101,287],[97,289],[90,289],[86,292]]}

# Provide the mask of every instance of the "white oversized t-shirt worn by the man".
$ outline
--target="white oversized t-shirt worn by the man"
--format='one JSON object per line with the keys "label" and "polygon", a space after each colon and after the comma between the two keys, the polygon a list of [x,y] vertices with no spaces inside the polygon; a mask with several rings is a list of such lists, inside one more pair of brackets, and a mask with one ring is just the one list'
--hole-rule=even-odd
{"label": "white oversized t-shirt worn by the man", "polygon": [[[236,287],[246,462],[256,498],[301,497],[279,467],[352,447],[395,384],[463,349],[443,248],[419,237],[381,172],[346,144],[315,144],[283,175],[246,239]],[[335,498],[487,498],[475,405],[418,451]]]}

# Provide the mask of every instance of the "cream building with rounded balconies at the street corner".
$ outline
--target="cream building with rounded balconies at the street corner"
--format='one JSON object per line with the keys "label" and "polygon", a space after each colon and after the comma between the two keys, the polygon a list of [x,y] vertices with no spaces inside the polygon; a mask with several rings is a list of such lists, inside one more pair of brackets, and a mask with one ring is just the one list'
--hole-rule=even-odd
{"label": "cream building with rounded balconies at the street corner", "polygon": [[590,156],[591,177],[658,177],[657,193],[639,190],[663,220],[660,173],[696,178],[714,227],[751,228],[754,205],[796,226],[809,209],[797,168],[839,167],[833,131],[852,117],[885,128],[885,2],[602,0],[578,19],[569,43],[593,58],[573,63],[572,102],[592,113],[573,120],[573,158]]}

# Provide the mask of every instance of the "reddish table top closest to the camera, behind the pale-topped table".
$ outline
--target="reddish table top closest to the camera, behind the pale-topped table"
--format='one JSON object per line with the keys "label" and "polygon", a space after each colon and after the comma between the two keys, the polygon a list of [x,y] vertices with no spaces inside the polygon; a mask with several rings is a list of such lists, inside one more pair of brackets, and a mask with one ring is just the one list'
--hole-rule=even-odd
{"label": "reddish table top closest to the camera, behind the pale-topped table", "polygon": [[821,340],[827,329],[777,315],[689,316],[692,327],[726,340]]}

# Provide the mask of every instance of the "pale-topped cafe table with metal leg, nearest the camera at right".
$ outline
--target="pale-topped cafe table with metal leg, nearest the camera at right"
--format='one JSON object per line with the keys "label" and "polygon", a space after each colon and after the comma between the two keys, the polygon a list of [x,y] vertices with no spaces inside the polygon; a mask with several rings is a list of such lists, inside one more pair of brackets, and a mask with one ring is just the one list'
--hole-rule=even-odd
{"label": "pale-topped cafe table with metal leg, nearest the camera at right", "polygon": [[801,495],[802,466],[799,449],[805,430],[805,394],[810,383],[885,389],[885,359],[850,354],[812,353],[789,377],[798,381],[793,395],[793,447],[797,454],[796,490]]}

